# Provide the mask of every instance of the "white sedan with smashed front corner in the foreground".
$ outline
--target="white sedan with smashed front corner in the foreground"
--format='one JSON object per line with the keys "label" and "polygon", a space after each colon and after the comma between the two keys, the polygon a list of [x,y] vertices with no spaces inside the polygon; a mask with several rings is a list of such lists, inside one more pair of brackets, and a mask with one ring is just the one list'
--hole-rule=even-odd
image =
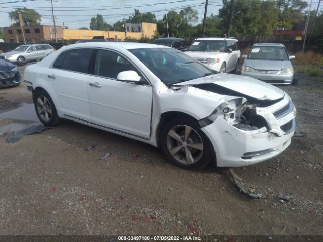
{"label": "white sedan with smashed front corner in the foreground", "polygon": [[288,147],[296,109],[281,89],[212,71],[166,46],[70,45],[26,68],[47,126],[66,118],[161,147],[183,168],[239,167]]}

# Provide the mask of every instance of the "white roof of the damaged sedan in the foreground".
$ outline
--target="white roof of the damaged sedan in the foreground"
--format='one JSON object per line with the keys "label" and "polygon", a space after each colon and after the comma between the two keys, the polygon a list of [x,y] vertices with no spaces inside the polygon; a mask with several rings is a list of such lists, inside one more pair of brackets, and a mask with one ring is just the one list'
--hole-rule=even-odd
{"label": "white roof of the damaged sedan in the foreground", "polygon": [[77,45],[71,44],[66,49],[75,48],[75,47],[99,47],[107,48],[112,46],[118,46],[124,49],[144,49],[144,48],[169,48],[163,45],[156,44],[146,44],[146,43],[134,43],[134,42],[86,42],[79,43]]}

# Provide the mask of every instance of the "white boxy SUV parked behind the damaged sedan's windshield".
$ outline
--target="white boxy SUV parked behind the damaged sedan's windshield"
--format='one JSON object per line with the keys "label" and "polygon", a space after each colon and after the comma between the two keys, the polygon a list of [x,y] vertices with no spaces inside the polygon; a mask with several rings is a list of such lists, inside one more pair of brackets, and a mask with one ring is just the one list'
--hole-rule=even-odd
{"label": "white boxy SUV parked behind the damaged sedan's windshield", "polygon": [[237,39],[198,38],[185,53],[217,72],[236,72],[240,62]]}

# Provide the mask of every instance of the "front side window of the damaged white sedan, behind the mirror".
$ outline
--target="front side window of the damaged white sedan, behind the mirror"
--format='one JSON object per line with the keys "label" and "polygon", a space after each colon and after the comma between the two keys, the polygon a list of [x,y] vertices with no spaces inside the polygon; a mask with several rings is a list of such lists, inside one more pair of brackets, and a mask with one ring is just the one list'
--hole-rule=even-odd
{"label": "front side window of the damaged white sedan, behind the mirror", "polygon": [[117,79],[119,72],[123,71],[135,71],[140,75],[137,69],[123,56],[108,50],[97,51],[95,75]]}

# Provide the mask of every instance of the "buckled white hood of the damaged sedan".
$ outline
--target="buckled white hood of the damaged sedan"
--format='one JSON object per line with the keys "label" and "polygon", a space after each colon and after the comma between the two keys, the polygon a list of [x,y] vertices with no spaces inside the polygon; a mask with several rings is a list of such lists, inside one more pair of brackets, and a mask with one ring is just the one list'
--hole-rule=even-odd
{"label": "buckled white hood of the damaged sedan", "polygon": [[[251,97],[260,101],[274,101],[284,97],[283,90],[252,77],[218,73],[206,77],[185,81],[172,86],[191,85],[196,88],[227,94]],[[209,88],[211,85],[211,88]],[[206,88],[207,87],[207,88]],[[219,91],[218,91],[218,90]],[[231,90],[232,92],[224,92]]]}

